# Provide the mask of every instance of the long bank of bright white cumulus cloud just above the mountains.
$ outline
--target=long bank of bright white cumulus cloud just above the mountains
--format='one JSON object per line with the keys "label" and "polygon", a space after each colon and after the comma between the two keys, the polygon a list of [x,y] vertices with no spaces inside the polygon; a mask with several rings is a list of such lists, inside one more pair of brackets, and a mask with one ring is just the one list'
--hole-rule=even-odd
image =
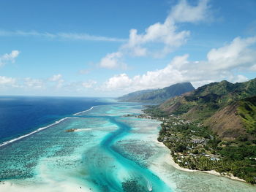
{"label": "long bank of bright white cumulus cloud just above the mountains", "polygon": [[252,45],[256,37],[242,39],[236,37],[229,44],[212,49],[206,61],[189,61],[189,55],[176,56],[165,68],[146,72],[146,74],[129,77],[118,74],[110,77],[102,88],[108,91],[138,91],[150,88],[163,88],[177,82],[192,82],[195,87],[218,80],[243,82],[247,72],[255,66],[256,51]]}

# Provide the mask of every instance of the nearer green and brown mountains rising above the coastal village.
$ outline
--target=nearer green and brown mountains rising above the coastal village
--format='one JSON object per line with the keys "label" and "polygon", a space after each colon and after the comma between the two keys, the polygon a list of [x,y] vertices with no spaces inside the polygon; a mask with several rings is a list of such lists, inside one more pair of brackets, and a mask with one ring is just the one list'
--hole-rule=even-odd
{"label": "nearer green and brown mountains rising above the coastal village", "polygon": [[256,78],[235,84],[212,82],[195,91],[168,99],[159,106],[167,114],[203,122],[220,138],[256,136]]}

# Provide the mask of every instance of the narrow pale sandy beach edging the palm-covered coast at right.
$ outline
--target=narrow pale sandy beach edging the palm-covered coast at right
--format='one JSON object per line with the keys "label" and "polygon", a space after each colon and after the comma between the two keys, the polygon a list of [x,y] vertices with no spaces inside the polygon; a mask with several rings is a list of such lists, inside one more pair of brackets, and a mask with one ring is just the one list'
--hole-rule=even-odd
{"label": "narrow pale sandy beach edging the palm-covered coast at right", "polygon": [[[163,144],[162,142],[159,142],[159,141],[155,141],[157,142],[159,145],[162,145],[162,147],[166,147],[165,144]],[[168,149],[168,148],[167,148]],[[170,150],[170,149],[168,149]],[[230,176],[225,174],[220,174],[219,172],[216,172],[215,170],[210,170],[210,171],[200,171],[200,170],[196,170],[196,169],[187,169],[187,168],[184,168],[184,167],[181,167],[179,166],[178,164],[176,164],[176,162],[173,160],[173,156],[169,153],[167,155],[165,155],[165,161],[170,164],[170,166],[173,166],[175,169],[178,169],[178,170],[181,170],[181,171],[184,171],[184,172],[203,172],[203,173],[207,173],[207,174],[214,174],[215,176],[219,176],[219,177],[227,177],[231,180],[237,180],[237,181],[240,181],[240,182],[244,182],[246,183],[245,180],[243,179],[240,179],[238,177],[235,177],[233,176],[233,174],[231,174]]]}

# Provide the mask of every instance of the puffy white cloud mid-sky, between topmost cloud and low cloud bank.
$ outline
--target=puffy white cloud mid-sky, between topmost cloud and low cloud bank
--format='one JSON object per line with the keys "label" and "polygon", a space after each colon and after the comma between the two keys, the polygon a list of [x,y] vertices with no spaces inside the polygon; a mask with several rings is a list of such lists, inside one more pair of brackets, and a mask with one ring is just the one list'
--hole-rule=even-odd
{"label": "puffy white cloud mid-sky, between topmost cloud and low cloud bank", "polygon": [[[165,23],[155,23],[146,28],[144,34],[138,34],[136,29],[130,30],[129,41],[121,47],[121,51],[132,56],[162,57],[183,45],[187,37],[189,31],[178,32],[172,18],[167,18]],[[161,44],[162,48],[159,50],[149,48],[148,45],[152,44]]]}

